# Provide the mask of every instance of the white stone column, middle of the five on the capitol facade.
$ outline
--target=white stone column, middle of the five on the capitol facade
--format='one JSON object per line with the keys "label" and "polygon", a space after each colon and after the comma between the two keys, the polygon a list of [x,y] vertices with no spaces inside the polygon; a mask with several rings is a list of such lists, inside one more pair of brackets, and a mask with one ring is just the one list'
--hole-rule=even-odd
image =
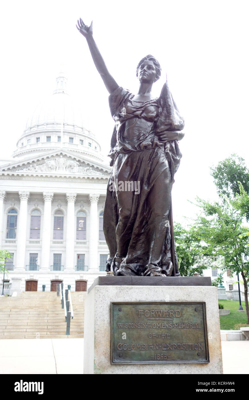
{"label": "white stone column, middle of the five on the capitol facade", "polygon": [[50,236],[51,236],[51,204],[54,193],[43,192],[44,213],[42,222],[42,254],[40,270],[50,270]]}

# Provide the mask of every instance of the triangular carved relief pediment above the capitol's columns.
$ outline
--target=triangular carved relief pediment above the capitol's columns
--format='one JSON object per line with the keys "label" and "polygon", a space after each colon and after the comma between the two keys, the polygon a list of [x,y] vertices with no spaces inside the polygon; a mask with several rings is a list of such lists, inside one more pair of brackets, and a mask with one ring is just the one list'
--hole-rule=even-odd
{"label": "triangular carved relief pediment above the capitol's columns", "polygon": [[61,174],[80,174],[80,175],[103,175],[107,176],[108,172],[100,171],[97,167],[90,166],[84,161],[76,161],[66,156],[54,156],[49,159],[42,159],[36,162],[30,162],[26,165],[8,168],[8,172],[41,172]]}

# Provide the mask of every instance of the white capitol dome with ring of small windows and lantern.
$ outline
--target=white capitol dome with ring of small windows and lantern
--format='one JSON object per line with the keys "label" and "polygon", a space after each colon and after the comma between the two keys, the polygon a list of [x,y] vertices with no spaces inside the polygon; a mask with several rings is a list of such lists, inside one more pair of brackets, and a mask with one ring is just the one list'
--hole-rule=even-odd
{"label": "white capitol dome with ring of small windows and lantern", "polygon": [[24,158],[30,152],[37,155],[64,148],[102,158],[98,139],[86,129],[77,102],[66,90],[66,82],[67,78],[60,73],[54,93],[28,118],[13,157]]}

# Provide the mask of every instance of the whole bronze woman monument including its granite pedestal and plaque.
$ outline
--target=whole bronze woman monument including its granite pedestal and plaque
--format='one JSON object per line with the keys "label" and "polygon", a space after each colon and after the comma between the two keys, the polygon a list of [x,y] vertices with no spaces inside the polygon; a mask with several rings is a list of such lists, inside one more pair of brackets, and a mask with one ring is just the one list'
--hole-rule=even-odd
{"label": "whole bronze woman monument including its granite pedestal and plaque", "polygon": [[[151,95],[161,75],[151,54],[137,65],[132,94],[108,72],[92,23],[80,19],[76,27],[115,121],[103,224],[108,276],[95,280],[85,300],[84,373],[221,374],[217,288],[210,278],[180,277],[175,252],[171,187],[183,118],[167,82],[159,98]],[[139,182],[139,192],[119,182],[133,182],[133,189]]]}

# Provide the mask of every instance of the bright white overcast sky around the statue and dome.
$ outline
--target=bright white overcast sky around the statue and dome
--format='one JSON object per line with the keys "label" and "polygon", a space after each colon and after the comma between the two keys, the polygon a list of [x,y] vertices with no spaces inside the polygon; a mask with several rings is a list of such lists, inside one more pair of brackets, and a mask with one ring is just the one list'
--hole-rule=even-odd
{"label": "bright white overcast sky around the statue and dome", "polygon": [[155,96],[167,72],[185,119],[174,220],[194,216],[187,200],[215,198],[212,164],[233,152],[248,162],[248,1],[12,0],[1,8],[0,158],[16,149],[26,120],[52,94],[62,64],[86,127],[108,153],[114,122],[108,92],[75,26],[81,16],[86,24],[94,21],[94,38],[120,86],[137,91],[135,68],[146,54],[162,67]]}

